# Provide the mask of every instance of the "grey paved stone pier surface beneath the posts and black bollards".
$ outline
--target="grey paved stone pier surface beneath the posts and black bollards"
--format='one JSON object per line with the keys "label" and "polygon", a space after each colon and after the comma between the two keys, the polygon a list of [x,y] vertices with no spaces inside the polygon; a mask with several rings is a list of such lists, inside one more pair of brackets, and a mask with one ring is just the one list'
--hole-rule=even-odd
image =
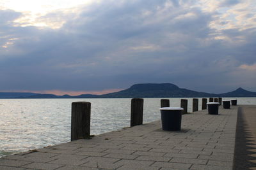
{"label": "grey paved stone pier surface beneath the posts and black bollards", "polygon": [[237,106],[220,106],[182,115],[180,132],[156,121],[3,157],[0,169],[232,169],[236,122]]}

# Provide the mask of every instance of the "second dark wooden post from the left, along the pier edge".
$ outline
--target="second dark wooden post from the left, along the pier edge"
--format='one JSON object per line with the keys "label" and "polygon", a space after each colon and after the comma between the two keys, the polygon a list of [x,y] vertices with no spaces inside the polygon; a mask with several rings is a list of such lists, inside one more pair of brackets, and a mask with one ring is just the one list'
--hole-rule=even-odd
{"label": "second dark wooden post from the left, along the pier edge", "polygon": [[143,101],[140,98],[131,101],[131,127],[143,124]]}

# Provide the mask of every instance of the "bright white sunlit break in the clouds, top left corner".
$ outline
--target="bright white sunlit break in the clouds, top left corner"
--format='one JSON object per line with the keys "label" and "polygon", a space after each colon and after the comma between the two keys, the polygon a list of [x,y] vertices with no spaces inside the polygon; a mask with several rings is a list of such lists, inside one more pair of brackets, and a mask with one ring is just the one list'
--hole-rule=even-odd
{"label": "bright white sunlit break in the clouds, top left corner", "polygon": [[[79,9],[77,7],[92,2],[93,0],[1,0],[0,10],[9,9],[22,13],[22,16],[14,21],[15,26],[26,27],[33,25],[59,29],[65,24],[65,19],[68,18],[68,15]],[[60,12],[61,15],[45,17],[49,13],[56,13],[56,11]]]}

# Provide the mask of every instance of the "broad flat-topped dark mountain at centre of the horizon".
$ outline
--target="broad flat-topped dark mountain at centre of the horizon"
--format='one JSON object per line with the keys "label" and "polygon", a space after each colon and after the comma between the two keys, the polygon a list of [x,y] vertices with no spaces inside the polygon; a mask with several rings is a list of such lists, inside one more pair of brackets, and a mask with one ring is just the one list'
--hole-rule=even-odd
{"label": "broad flat-topped dark mountain at centre of the horizon", "polygon": [[129,89],[100,97],[132,98],[132,97],[217,97],[216,94],[196,92],[188,89],[180,89],[172,83],[147,83],[132,85]]}

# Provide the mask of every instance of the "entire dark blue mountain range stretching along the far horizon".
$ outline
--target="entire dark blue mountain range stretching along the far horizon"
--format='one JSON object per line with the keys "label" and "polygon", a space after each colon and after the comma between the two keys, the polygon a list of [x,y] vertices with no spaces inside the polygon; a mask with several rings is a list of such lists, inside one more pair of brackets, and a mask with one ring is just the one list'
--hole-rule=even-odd
{"label": "entire dark blue mountain range stretching along the far horizon", "polygon": [[143,83],[132,85],[129,89],[103,95],[82,94],[79,96],[56,96],[54,94],[8,93],[0,92],[1,99],[45,99],[45,98],[134,98],[134,97],[256,97],[256,92],[239,88],[233,92],[211,94],[181,89],[172,83]]}

